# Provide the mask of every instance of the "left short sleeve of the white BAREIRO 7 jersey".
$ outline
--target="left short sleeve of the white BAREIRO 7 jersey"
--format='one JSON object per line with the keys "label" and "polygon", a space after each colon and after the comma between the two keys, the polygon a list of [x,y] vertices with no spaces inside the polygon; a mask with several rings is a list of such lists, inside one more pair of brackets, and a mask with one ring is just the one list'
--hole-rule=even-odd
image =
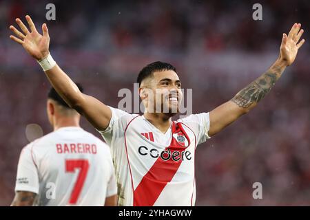
{"label": "left short sleeve of the white BAREIRO 7 jersey", "polygon": [[34,164],[31,151],[32,145],[25,146],[19,157],[15,191],[39,193],[39,175]]}

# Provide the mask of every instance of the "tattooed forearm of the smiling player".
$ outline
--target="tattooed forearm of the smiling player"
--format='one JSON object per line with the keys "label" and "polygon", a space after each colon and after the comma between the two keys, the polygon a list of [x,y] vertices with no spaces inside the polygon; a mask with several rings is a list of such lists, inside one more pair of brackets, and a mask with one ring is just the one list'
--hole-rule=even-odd
{"label": "tattooed forearm of the smiling player", "polygon": [[239,91],[231,101],[244,109],[245,113],[253,109],[269,93],[286,67],[287,63],[278,59],[267,72]]}

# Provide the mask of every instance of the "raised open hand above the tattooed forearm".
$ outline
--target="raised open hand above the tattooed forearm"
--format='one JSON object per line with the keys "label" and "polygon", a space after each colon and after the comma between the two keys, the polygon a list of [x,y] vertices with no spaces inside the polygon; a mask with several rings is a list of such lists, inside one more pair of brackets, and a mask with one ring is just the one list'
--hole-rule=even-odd
{"label": "raised open hand above the tattooed forearm", "polygon": [[300,27],[300,23],[294,23],[289,35],[283,34],[279,59],[280,61],[285,61],[287,66],[295,61],[298,49],[304,44],[304,39],[299,41],[304,32],[304,30],[300,30]]}

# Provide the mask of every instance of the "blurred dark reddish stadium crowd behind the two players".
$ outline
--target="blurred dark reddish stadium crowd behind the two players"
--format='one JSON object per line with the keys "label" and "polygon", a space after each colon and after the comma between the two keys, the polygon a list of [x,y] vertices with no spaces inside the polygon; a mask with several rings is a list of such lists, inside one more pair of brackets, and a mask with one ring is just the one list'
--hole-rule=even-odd
{"label": "blurred dark reddish stadium crowd behind the two players", "polygon": [[[56,5],[56,21],[45,5]],[[14,196],[25,128],[52,131],[45,113],[50,85],[39,65],[10,41],[15,17],[47,22],[54,59],[85,93],[117,106],[152,61],[175,65],[194,88],[194,113],[211,111],[276,60],[283,32],[302,23],[306,43],[265,100],[198,146],[198,206],[310,205],[310,1],[0,1],[0,205]],[[99,136],[82,120],[85,130]],[[252,197],[262,183],[263,199]]]}

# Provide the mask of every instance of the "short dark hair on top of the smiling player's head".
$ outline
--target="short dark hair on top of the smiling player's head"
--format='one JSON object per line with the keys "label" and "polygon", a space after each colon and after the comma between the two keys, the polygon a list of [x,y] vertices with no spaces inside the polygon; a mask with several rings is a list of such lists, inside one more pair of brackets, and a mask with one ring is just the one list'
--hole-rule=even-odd
{"label": "short dark hair on top of the smiling player's head", "polygon": [[154,63],[149,63],[138,74],[138,78],[136,79],[136,82],[141,85],[142,81],[153,74],[156,71],[165,71],[165,70],[173,70],[176,72],[176,67],[171,65],[170,63],[163,63],[161,61],[156,61]]}

